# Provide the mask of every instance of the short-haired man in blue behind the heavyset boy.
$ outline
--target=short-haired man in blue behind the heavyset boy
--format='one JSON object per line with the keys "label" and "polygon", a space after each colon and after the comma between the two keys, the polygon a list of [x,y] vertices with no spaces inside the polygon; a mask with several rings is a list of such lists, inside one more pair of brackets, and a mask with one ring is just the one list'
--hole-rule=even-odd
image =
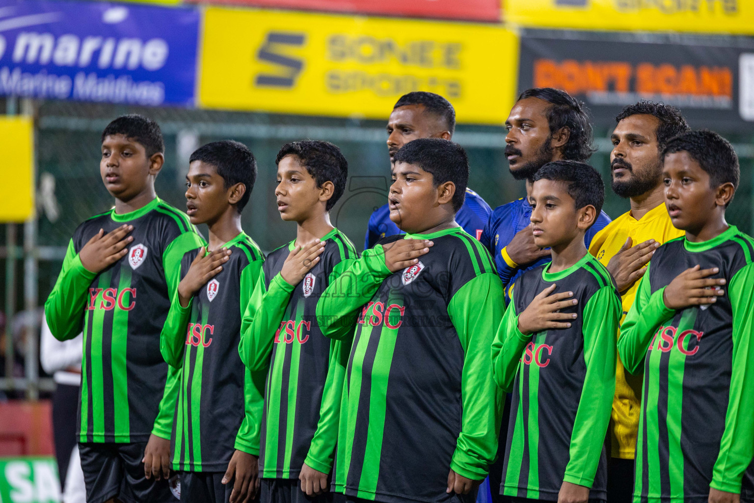
{"label": "short-haired man in blue behind the heavyset boy", "polygon": [[[395,103],[388,118],[388,153],[391,164],[398,149],[417,138],[442,138],[450,140],[455,130],[455,109],[439,94],[415,91],[404,94]],[[455,215],[455,221],[468,234],[479,239],[492,209],[483,198],[471,189],[466,189],[464,204]],[[386,203],[369,216],[369,225],[364,239],[364,250],[385,236],[403,234],[390,219]]]}

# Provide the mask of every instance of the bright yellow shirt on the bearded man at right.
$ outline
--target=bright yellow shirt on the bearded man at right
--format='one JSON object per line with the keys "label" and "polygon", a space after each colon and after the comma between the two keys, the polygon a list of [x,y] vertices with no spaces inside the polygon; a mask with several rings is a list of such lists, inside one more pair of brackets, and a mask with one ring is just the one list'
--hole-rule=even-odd
{"label": "bright yellow shirt on the bearded man at right", "polygon": [[[673,227],[665,204],[660,204],[649,210],[639,220],[634,219],[630,211],[619,216],[594,236],[589,251],[593,256],[596,256],[602,265],[607,266],[610,259],[618,253],[618,250],[621,250],[628,238],[631,238],[631,246],[636,246],[636,244],[649,239],[654,239],[662,244],[683,234],[683,231]],[[624,317],[633,305],[633,299],[638,288],[639,281],[636,281],[621,296],[623,303],[621,323],[623,323]],[[634,457],[641,400],[642,376],[632,376],[626,373],[623,363],[618,358],[615,370],[615,397],[613,397],[610,422],[611,455],[614,458],[633,459]]]}

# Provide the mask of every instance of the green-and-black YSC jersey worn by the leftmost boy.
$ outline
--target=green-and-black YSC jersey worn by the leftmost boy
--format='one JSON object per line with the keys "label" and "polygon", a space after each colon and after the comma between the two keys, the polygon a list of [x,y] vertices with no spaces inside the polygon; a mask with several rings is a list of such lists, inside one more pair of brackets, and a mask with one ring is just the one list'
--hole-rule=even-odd
{"label": "green-and-black YSC jersey worn by the leftmost boy", "polygon": [[[99,274],[78,253],[100,228],[129,223],[128,253]],[[185,213],[155,198],[118,215],[109,210],[81,223],[68,245],[57,283],[44,303],[51,332],[84,332],[80,442],[144,442],[170,438],[176,370],[160,354],[160,331],[178,286],[183,254],[204,244]],[[167,379],[167,384],[166,384]]]}

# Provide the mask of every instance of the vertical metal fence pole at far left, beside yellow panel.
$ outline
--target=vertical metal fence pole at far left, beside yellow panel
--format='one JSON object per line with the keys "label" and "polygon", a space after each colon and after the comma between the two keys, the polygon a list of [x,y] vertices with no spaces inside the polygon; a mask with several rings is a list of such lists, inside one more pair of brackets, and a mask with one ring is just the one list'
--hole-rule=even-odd
{"label": "vertical metal fence pole at far left, beside yellow panel", "polygon": [[[29,98],[21,101],[21,113],[34,116],[34,102]],[[36,142],[34,142],[36,144]],[[36,160],[32,161],[32,183],[36,180]],[[33,189],[35,192],[36,190]],[[36,323],[37,296],[39,288],[37,262],[37,210],[32,209],[29,219],[23,224],[23,305],[27,313],[26,326],[26,398],[39,398],[39,335]]]}

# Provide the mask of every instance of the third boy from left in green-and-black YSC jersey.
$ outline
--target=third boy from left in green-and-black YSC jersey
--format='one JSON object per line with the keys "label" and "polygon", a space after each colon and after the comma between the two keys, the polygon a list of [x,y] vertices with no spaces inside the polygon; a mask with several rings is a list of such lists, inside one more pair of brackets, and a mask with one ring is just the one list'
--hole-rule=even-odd
{"label": "third boy from left in green-and-black YSC jersey", "polygon": [[277,209],[296,239],[269,254],[244,315],[241,360],[267,370],[259,476],[262,501],[325,500],[333,468],[349,342],[322,335],[315,311],[330,281],[356,258],[330,224],[348,163],[331,143],[302,141],[277,154]]}

